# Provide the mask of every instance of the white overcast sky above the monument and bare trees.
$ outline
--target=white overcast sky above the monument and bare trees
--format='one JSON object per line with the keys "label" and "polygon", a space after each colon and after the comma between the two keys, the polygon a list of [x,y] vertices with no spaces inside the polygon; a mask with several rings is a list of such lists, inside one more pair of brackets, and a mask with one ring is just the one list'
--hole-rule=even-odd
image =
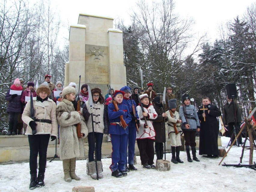
{"label": "white overcast sky above the monument and bare trees", "polygon": [[[38,0],[29,0],[31,3]],[[52,7],[60,11],[64,22],[78,23],[79,13],[110,16],[114,19],[123,18],[125,24],[129,24],[129,13],[136,6],[138,0],[54,0]],[[226,23],[237,16],[242,16],[246,8],[255,0],[174,0],[175,12],[182,17],[193,17],[196,21],[197,32],[207,32],[209,38],[214,41],[218,38],[218,25]],[[151,2],[151,0],[148,0]]]}

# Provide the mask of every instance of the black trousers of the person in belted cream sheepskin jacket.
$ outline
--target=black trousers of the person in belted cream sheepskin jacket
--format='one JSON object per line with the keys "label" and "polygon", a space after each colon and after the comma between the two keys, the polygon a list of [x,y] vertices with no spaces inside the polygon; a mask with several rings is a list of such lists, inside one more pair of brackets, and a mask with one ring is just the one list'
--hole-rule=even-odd
{"label": "black trousers of the person in belted cream sheepskin jacket", "polygon": [[46,166],[46,155],[47,147],[50,139],[50,134],[38,134],[38,135],[28,135],[29,138],[29,168],[30,174],[37,173],[37,155],[39,153],[39,170],[38,173],[45,172]]}

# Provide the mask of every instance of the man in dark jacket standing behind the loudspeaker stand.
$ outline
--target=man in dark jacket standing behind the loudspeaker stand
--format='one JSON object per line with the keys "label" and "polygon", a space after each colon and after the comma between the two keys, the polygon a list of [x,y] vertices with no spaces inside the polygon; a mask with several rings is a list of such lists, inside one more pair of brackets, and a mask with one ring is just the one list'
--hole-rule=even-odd
{"label": "man in dark jacket standing behind the loudspeaker stand", "polygon": [[[243,121],[239,105],[237,104],[237,102],[235,102],[234,100],[232,101],[232,99],[229,99],[227,96],[227,103],[224,105],[224,124],[226,127],[228,126],[228,133],[230,135],[231,143],[235,139],[235,135],[233,135],[234,126],[236,128],[239,128],[240,123],[242,122]],[[239,130],[236,129],[236,135],[238,134],[238,132]],[[240,135],[238,139],[239,144],[241,144],[242,136]]]}

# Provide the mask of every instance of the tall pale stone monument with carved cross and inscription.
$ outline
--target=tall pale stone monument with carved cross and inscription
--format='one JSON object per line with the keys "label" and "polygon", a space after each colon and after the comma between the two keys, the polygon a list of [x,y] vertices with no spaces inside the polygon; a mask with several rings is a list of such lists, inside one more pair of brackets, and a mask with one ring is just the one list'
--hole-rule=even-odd
{"label": "tall pale stone monument with carved cross and inscription", "polygon": [[[75,82],[114,90],[126,85],[123,65],[123,32],[113,29],[113,18],[79,14],[78,24],[70,26],[69,61],[65,66],[65,86]],[[80,90],[77,90],[80,91]]]}

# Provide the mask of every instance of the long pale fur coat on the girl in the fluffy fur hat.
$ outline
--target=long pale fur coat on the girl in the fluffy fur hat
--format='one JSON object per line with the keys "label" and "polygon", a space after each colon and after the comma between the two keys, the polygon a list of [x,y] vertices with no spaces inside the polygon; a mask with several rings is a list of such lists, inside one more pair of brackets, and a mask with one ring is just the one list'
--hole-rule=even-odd
{"label": "long pale fur coat on the girl in the fluffy fur hat", "polygon": [[[59,123],[59,157],[72,159],[75,157],[85,157],[84,138],[88,135],[88,129],[84,117],[80,115],[67,99],[63,99],[56,107],[56,115]],[[76,124],[81,123],[81,133],[84,136],[78,139]]]}

